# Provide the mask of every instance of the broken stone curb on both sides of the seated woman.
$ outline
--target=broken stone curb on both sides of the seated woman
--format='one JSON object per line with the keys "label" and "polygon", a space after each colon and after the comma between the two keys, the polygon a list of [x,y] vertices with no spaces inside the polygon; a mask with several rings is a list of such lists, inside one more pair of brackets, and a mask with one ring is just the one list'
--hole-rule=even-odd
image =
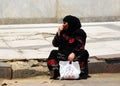
{"label": "broken stone curb on both sides of the seated woman", "polygon": [[[110,56],[112,57],[110,58]],[[120,73],[120,57],[115,56],[116,55],[104,55],[90,57],[88,62],[89,74]],[[17,63],[17,68],[14,67],[15,65],[13,64],[13,62]],[[23,67],[21,67],[21,65],[23,65]],[[30,65],[30,67],[28,67],[28,65]],[[27,78],[48,74],[49,72],[45,59],[15,60],[9,63],[0,62],[0,78]]]}

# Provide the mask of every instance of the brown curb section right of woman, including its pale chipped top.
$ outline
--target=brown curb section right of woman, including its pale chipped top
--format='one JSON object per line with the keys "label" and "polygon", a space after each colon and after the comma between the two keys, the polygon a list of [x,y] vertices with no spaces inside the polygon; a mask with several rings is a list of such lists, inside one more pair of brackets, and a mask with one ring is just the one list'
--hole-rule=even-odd
{"label": "brown curb section right of woman, including its pale chipped top", "polygon": [[89,73],[120,73],[120,58],[119,62],[107,61],[103,59],[90,58],[88,64]]}

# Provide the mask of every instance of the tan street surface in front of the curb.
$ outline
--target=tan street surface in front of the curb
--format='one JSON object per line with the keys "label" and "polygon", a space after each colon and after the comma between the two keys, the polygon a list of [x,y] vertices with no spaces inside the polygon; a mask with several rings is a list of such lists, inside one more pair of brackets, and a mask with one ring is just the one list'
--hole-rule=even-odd
{"label": "tan street surface in front of the curb", "polygon": [[120,74],[92,74],[87,80],[50,80],[48,76],[0,80],[1,86],[119,86]]}

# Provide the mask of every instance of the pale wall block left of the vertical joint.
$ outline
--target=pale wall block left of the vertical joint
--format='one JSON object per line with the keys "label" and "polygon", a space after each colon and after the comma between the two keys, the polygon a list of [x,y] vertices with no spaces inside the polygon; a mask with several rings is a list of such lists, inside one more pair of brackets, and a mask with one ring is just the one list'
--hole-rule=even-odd
{"label": "pale wall block left of the vertical joint", "polygon": [[56,0],[0,0],[0,18],[55,17]]}

